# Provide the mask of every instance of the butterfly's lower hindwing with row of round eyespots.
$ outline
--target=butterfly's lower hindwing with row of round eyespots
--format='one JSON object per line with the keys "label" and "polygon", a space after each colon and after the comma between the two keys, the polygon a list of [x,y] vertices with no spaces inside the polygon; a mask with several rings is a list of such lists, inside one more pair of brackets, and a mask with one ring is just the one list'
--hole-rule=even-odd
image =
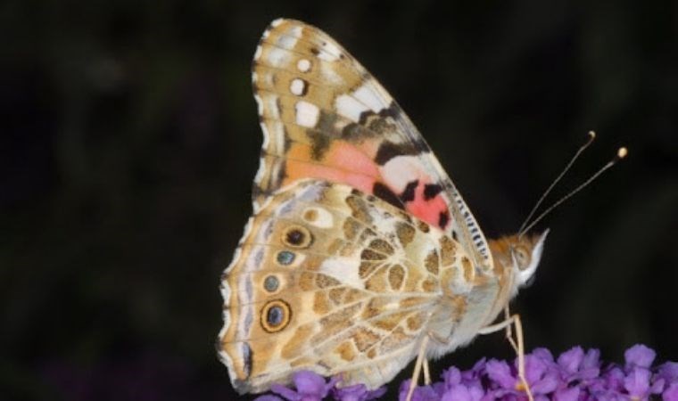
{"label": "butterfly's lower hindwing with row of round eyespots", "polygon": [[[422,335],[459,323],[473,274],[463,259],[442,231],[350,186],[281,189],[250,220],[222,281],[219,353],[234,387],[259,392],[300,369],[342,372],[345,385],[391,380]],[[442,282],[457,282],[457,307],[436,309]]]}

